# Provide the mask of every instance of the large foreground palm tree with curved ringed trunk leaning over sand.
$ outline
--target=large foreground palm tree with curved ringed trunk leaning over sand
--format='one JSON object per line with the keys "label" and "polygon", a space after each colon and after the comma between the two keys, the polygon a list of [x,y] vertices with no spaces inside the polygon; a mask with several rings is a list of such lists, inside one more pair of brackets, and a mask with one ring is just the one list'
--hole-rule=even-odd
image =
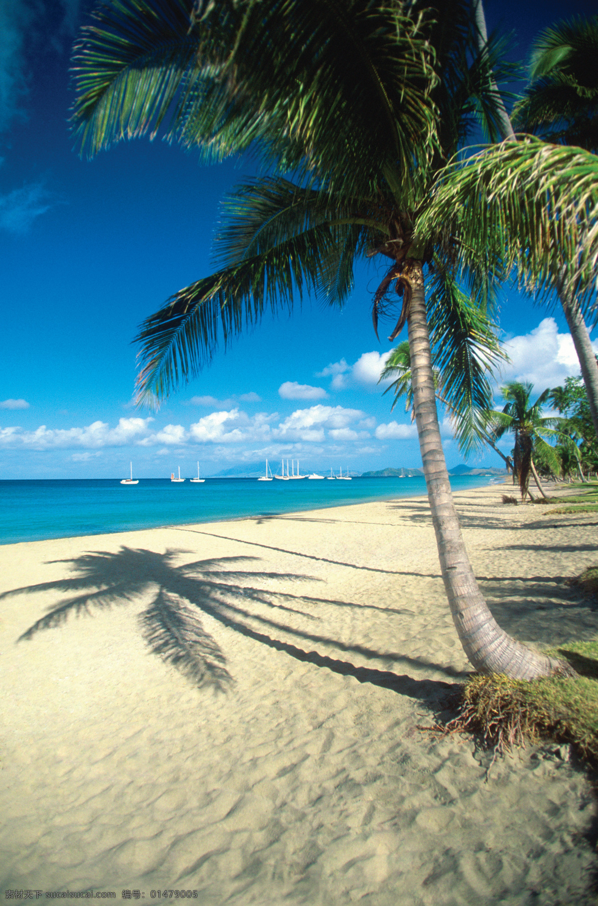
{"label": "large foreground palm tree with curved ringed trunk leaning over sand", "polygon": [[477,670],[531,679],[557,662],[498,627],[463,544],[440,441],[424,288],[433,273],[442,305],[460,275],[484,308],[497,262],[485,249],[463,253],[447,236],[415,241],[434,176],[467,140],[474,116],[497,135],[496,61],[476,52],[468,2],[439,5],[433,19],[422,8],[119,0],[100,7],[77,46],[73,123],[94,153],[156,134],[170,111],[171,138],[208,158],[252,148],[270,169],[228,199],[217,272],[142,325],[141,400],[162,399],[197,373],[214,353],[218,324],[227,342],[266,306],[290,307],[304,290],[340,305],[359,257],[388,259],[373,320],[377,326],[394,303],[391,339],[408,326],[420,450],[459,638]]}

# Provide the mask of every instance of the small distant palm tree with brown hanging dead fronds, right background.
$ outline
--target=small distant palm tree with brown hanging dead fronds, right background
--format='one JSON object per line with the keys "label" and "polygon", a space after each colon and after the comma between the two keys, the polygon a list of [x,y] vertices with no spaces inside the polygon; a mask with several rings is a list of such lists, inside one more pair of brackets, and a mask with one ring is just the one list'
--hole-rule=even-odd
{"label": "small distant palm tree with brown hanging dead fronds, right background", "polygon": [[503,387],[503,399],[506,406],[502,412],[492,412],[492,433],[495,439],[500,439],[510,431],[515,435],[515,451],[513,454],[513,475],[519,480],[521,499],[525,500],[529,486],[530,474],[534,476],[535,484],[542,496],[546,496],[540,479],[535,470],[533,452],[541,450],[544,463],[551,471],[560,474],[559,459],[555,448],[546,443],[545,438],[555,438],[557,432],[553,426],[560,419],[543,418],[542,406],[550,396],[550,389],[540,394],[535,403],[530,402],[533,386],[530,383],[510,381]]}

